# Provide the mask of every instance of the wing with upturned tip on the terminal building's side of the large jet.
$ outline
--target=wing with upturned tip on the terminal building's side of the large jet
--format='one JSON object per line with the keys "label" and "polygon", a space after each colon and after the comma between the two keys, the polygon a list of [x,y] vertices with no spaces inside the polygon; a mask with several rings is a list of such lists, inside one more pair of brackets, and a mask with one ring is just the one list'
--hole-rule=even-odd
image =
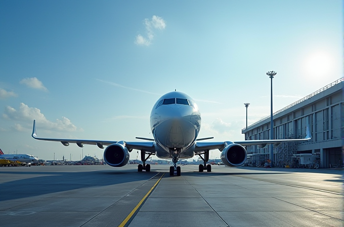
{"label": "wing with upturned tip on the terminal building's side of the large jet", "polygon": [[260,145],[264,147],[267,144],[279,144],[282,142],[305,142],[312,138],[309,126],[306,127],[306,137],[304,139],[262,139],[262,140],[243,140],[243,141],[225,141],[225,142],[196,142],[195,153],[201,153],[204,150],[219,149],[222,151],[228,144],[236,143],[242,146]]}

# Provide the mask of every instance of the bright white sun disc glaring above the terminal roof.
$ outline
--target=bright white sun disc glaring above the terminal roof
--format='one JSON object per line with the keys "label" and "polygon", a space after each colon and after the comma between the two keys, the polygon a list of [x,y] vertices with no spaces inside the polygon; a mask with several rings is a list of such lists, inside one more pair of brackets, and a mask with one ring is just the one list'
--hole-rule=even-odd
{"label": "bright white sun disc glaring above the terminal roof", "polygon": [[312,77],[325,76],[333,69],[333,59],[328,53],[316,52],[307,58],[305,66]]}

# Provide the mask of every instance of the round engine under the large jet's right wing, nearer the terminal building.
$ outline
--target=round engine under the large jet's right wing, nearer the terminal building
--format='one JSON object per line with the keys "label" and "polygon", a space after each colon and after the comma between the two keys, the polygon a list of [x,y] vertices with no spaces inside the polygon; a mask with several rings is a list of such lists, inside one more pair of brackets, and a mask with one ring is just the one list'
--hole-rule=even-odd
{"label": "round engine under the large jet's right wing, nearer the terminal building", "polygon": [[227,145],[221,153],[221,160],[226,166],[241,166],[246,162],[247,152],[240,144],[231,143]]}

